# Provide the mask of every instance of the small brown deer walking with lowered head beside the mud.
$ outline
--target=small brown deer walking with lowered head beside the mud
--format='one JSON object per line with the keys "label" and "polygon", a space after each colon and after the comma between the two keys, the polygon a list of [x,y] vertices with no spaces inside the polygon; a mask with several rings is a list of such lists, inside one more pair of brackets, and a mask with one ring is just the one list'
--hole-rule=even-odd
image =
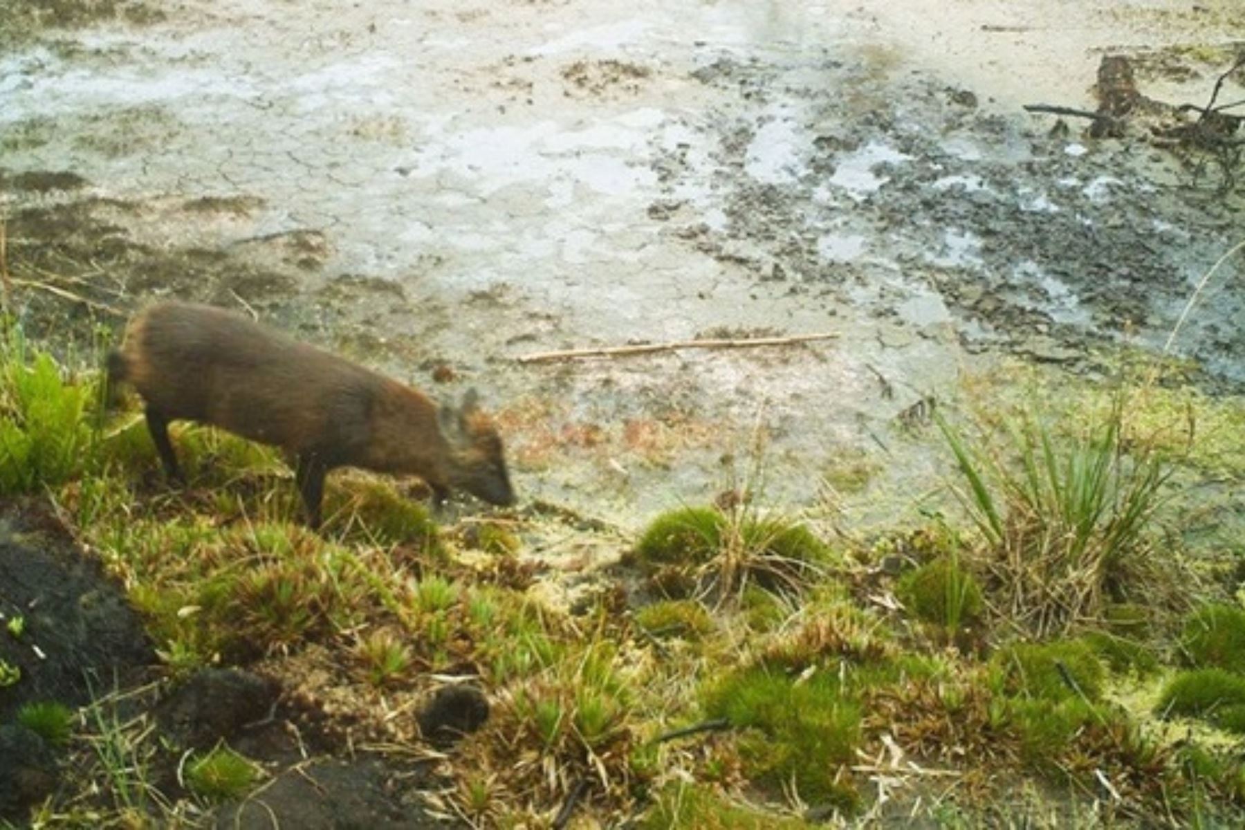
{"label": "small brown deer walking with lowered head beside the mud", "polygon": [[108,381],[143,398],[164,472],[182,480],[171,421],[197,421],[273,444],[293,460],[308,524],[320,526],[336,467],[418,475],[439,508],[459,489],[514,503],[502,439],[477,403],[439,409],[427,396],[357,363],[213,306],[161,302],[108,355]]}

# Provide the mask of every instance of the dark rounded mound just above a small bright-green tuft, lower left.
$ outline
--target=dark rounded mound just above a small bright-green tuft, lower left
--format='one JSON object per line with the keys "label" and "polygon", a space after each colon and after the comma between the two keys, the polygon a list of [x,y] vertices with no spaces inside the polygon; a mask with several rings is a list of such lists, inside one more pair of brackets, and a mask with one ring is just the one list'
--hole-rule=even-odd
{"label": "dark rounded mound just above a small bright-green tuft, lower left", "polygon": [[156,707],[156,720],[178,744],[207,749],[263,720],[280,687],[239,668],[207,668]]}

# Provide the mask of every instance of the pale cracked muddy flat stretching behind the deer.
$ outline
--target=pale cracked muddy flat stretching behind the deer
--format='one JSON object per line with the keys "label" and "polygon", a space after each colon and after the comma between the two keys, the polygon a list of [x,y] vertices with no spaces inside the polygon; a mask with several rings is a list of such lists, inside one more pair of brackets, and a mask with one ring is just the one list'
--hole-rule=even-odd
{"label": "pale cracked muddy flat stretching behind the deer", "polygon": [[[1005,355],[1157,355],[1245,231],[1241,170],[1152,141],[1173,113],[1093,138],[1021,108],[1096,108],[1104,55],[1204,103],[1234,0],[15,1],[0,207],[27,332],[82,358],[172,295],[476,386],[525,499],[626,529],[721,490],[758,424],[769,501],[854,478],[850,515],[893,523],[939,478],[930,399]],[[1174,342],[1211,392],[1245,389],[1239,263]],[[812,332],[837,337],[515,361]]]}

